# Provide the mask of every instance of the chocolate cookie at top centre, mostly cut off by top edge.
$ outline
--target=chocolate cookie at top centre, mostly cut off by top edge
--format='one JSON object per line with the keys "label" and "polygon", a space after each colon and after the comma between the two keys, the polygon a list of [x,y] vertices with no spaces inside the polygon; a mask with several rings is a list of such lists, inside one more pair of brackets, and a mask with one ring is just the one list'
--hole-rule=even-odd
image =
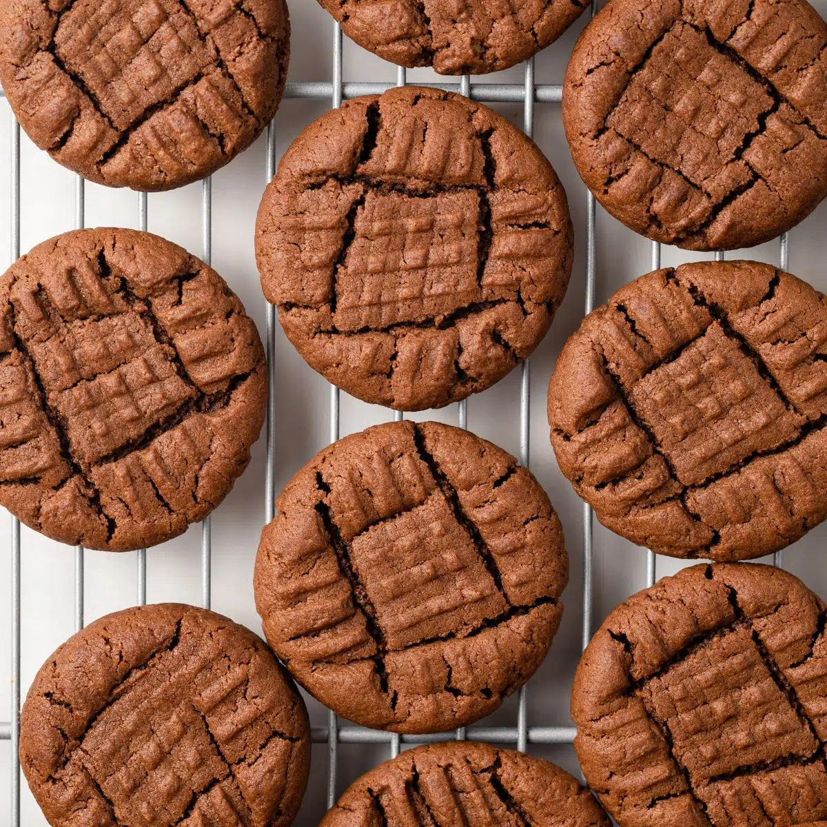
{"label": "chocolate cookie at top centre, mostly cut off by top edge", "polygon": [[508,69],[556,41],[588,0],[318,0],[348,37],[400,66],[440,74]]}

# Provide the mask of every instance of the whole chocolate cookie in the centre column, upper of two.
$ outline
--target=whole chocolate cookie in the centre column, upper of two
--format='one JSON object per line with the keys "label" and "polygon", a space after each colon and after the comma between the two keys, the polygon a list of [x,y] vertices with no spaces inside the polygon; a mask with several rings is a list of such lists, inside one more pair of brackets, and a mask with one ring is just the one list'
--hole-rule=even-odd
{"label": "whole chocolate cookie in the centre column, upper of two", "polygon": [[436,89],[328,112],[265,191],[265,295],[309,365],[349,394],[439,408],[545,335],[571,275],[566,194],[503,117]]}

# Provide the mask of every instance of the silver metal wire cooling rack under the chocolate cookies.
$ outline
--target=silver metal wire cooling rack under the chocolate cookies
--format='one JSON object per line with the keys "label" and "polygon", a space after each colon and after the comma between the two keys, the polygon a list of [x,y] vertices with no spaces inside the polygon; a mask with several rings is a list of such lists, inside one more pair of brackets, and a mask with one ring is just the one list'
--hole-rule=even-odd
{"label": "silver metal wire cooling rack under the chocolate cookies", "polygon": [[[593,17],[599,0],[592,0],[590,14]],[[284,98],[303,100],[329,100],[332,108],[342,105],[342,100],[356,98],[361,95],[380,94],[394,84],[384,83],[345,83],[342,78],[342,27],[334,24],[332,30],[333,65],[330,82],[288,83]],[[404,86],[406,72],[404,68],[396,68],[396,86]],[[481,103],[522,103],[523,104],[523,131],[529,137],[534,130],[535,103],[560,103],[562,100],[561,84],[537,84],[534,79],[533,58],[524,64],[523,84],[471,84],[468,75],[463,75],[459,83],[420,84],[458,92],[466,97],[473,98]],[[4,97],[0,88],[0,97]],[[12,113],[12,139],[10,141],[11,160],[11,261],[17,261],[20,256],[20,125]],[[266,131],[267,149],[265,154],[265,184],[275,174],[275,127],[273,123]],[[211,263],[213,249],[213,184],[208,178],[202,184],[202,250],[201,258],[207,264]],[[147,197],[146,193],[136,194],[136,209],[138,227],[146,230],[147,226]],[[75,179],[74,191],[74,228],[84,227],[84,179],[79,175]],[[595,197],[586,192],[586,299],[584,314],[595,308],[595,270],[596,270],[596,204]],[[661,266],[661,245],[652,242],[651,251],[652,270]],[[715,259],[722,261],[723,253],[716,253]],[[788,270],[789,238],[785,233],[779,244],[779,264],[782,270]],[[266,333],[265,347],[268,361],[268,378],[270,389],[275,386],[275,330],[276,311],[272,304],[266,305]],[[330,385],[330,442],[339,438],[339,390]],[[520,375],[519,396],[519,462],[523,466],[529,464],[529,436],[531,422],[529,417],[531,402],[531,366],[529,361],[523,362]],[[400,420],[403,414],[394,412],[394,420]],[[467,427],[466,400],[458,404],[458,422],[460,428]],[[265,519],[270,522],[274,517],[275,501],[275,397],[270,393],[267,404],[267,419],[265,425],[266,466],[265,466]],[[582,506],[583,521],[583,584],[582,584],[582,646],[586,648],[592,633],[592,594],[594,586],[593,568],[593,512],[590,505]],[[11,748],[11,821],[12,827],[20,827],[20,785],[21,772],[18,757],[18,739],[20,734],[20,706],[21,706],[21,543],[20,521],[12,519],[11,530],[11,586],[12,586],[12,708],[11,717],[7,722],[0,721],[0,740],[9,742]],[[655,581],[655,555],[648,551],[645,557],[646,582],[651,586]],[[782,555],[777,552],[774,556],[777,566],[781,565]],[[201,581],[202,605],[210,607],[212,597],[212,527],[208,517],[201,527]],[[146,549],[136,552],[136,604],[146,604]],[[74,631],[84,626],[84,548],[75,547],[74,550]],[[529,681],[530,682],[530,681]],[[383,732],[375,729],[355,725],[342,725],[337,715],[328,713],[327,726],[313,727],[313,743],[327,743],[327,806],[331,807],[337,800],[337,758],[340,743],[379,743],[390,744],[392,757],[399,754],[400,743],[430,743],[452,739],[473,739],[499,743],[525,751],[529,743],[535,744],[571,744],[574,741],[576,729],[574,727],[528,726],[527,715],[528,686],[519,691],[517,720],[513,727],[470,726],[451,732],[437,735],[402,735]]]}

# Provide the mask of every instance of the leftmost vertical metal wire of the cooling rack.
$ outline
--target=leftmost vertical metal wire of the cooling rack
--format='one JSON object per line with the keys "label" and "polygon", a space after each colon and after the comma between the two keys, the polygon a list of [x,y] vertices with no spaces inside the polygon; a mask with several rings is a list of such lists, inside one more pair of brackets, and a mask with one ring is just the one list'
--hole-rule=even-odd
{"label": "leftmost vertical metal wire of the cooling rack", "polygon": [[[12,114],[12,262],[20,258],[20,124]],[[12,827],[20,827],[20,520],[12,517],[12,781],[9,794]]]}

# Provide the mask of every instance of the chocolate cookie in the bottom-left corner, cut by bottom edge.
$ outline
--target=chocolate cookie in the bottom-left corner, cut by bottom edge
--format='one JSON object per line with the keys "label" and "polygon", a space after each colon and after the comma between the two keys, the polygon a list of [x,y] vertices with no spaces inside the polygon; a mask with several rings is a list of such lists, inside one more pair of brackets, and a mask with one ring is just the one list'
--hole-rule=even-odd
{"label": "chocolate cookie in the bottom-left corner, cut by bottom edge", "polygon": [[109,614],[45,662],[20,758],[55,827],[287,827],[310,728],[255,634],[168,603]]}

